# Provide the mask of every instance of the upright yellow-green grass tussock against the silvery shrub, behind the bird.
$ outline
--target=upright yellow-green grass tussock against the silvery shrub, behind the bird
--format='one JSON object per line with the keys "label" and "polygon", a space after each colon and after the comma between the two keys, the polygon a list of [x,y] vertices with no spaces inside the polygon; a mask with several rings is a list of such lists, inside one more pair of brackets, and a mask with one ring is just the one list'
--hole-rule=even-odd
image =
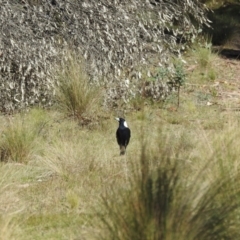
{"label": "upright yellow-green grass tussock against the silvery shrub, behind the bird", "polygon": [[68,59],[64,69],[58,72],[58,106],[67,115],[82,119],[98,108],[100,90],[90,84],[80,60],[74,56]]}

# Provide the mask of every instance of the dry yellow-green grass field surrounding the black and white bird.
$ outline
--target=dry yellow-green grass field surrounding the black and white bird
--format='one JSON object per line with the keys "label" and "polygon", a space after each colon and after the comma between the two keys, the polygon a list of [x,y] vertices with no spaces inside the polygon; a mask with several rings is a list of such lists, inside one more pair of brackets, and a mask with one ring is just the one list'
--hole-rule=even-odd
{"label": "dry yellow-green grass field surrounding the black and white bird", "polygon": [[[224,64],[217,59],[211,68]],[[230,66],[238,69],[239,63]],[[232,74],[229,68],[224,70],[224,76]],[[237,86],[213,86],[219,79],[199,80],[201,72],[199,65],[188,71],[178,109],[175,101],[168,100],[161,108],[146,105],[127,114],[132,138],[124,157],[119,156],[117,123],[111,112],[92,130],[58,111],[37,109],[24,115],[24,121],[15,116],[12,123],[22,121],[20,127],[13,126],[23,127],[25,134],[35,129],[35,137],[27,161],[0,165],[2,239],[156,239],[161,233],[154,227],[155,216],[144,208],[139,197],[143,192],[136,187],[145,167],[159,186],[178,176],[176,185],[168,188],[174,192],[172,205],[161,218],[164,239],[176,239],[175,233],[181,233],[178,239],[238,239],[240,116],[236,101],[224,95]],[[234,76],[228,81],[238,84]],[[1,122],[3,133],[6,117]],[[165,175],[164,159],[175,166],[172,175]],[[155,205],[161,196],[168,203],[167,191],[162,191],[152,195],[159,198]],[[142,238],[133,238],[141,226]]]}

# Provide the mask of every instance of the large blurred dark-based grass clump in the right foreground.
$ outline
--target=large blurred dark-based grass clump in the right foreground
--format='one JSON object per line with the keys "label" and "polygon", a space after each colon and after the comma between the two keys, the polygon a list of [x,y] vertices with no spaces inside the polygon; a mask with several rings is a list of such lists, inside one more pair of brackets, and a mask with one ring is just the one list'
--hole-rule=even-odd
{"label": "large blurred dark-based grass clump in the right foreground", "polygon": [[103,196],[101,239],[239,239],[239,173],[208,181],[206,166],[192,179],[165,147],[154,154],[143,147],[130,187]]}

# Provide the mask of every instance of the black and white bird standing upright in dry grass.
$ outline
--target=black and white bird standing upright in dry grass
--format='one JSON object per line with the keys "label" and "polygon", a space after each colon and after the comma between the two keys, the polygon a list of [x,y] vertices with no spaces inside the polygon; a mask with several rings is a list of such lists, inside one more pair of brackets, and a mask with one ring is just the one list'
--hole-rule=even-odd
{"label": "black and white bird standing upright in dry grass", "polygon": [[131,130],[129,129],[125,119],[116,118],[116,120],[119,122],[119,127],[116,132],[117,142],[120,147],[120,155],[124,155],[130,141]]}

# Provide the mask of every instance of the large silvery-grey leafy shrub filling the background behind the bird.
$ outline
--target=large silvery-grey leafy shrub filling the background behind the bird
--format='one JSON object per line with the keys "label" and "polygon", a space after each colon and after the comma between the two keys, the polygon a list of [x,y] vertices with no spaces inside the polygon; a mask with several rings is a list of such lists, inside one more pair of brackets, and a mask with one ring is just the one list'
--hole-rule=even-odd
{"label": "large silvery-grey leafy shrub filling the background behind the bird", "polygon": [[[128,101],[142,90],[142,70],[171,68],[171,55],[208,25],[205,12],[197,0],[6,0],[0,14],[0,110],[52,106],[55,71],[69,61],[69,49],[84,57],[91,82],[104,86],[105,105]],[[157,81],[154,91],[158,86],[165,96],[166,84]]]}

